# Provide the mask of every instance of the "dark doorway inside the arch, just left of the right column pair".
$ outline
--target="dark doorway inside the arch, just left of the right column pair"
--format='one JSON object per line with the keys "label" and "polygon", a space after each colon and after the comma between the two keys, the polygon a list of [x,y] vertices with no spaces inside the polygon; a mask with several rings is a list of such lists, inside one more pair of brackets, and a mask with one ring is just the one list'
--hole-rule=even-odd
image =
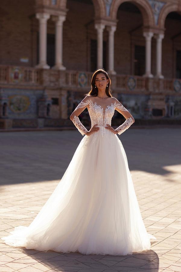
{"label": "dark doorway inside the arch, just left of the right column pair", "polygon": [[145,73],[145,47],[135,45],[135,76],[142,76]]}

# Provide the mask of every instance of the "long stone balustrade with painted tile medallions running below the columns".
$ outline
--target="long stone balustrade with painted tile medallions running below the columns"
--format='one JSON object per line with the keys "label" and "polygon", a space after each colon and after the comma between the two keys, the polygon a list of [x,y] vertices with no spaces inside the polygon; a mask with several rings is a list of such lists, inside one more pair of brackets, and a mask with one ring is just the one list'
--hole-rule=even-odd
{"label": "long stone balustrade with painted tile medallions running below the columns", "polygon": [[[90,89],[92,72],[73,70],[46,70],[33,67],[0,65],[0,83],[27,86],[57,86],[75,89]],[[142,76],[112,75],[112,89],[119,91],[181,92],[180,79],[156,79]],[[155,87],[156,86],[156,87]]]}

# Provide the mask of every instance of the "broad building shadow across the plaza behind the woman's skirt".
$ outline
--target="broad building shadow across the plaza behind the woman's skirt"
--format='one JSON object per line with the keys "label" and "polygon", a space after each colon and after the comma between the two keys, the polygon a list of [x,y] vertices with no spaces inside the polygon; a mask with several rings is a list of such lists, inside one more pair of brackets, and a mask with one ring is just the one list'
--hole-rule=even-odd
{"label": "broad building shadow across the plaza behind the woman's skirt", "polygon": [[[129,129],[119,136],[130,170],[158,175],[181,164],[180,128]],[[60,180],[81,141],[78,131],[0,133],[0,185]]]}

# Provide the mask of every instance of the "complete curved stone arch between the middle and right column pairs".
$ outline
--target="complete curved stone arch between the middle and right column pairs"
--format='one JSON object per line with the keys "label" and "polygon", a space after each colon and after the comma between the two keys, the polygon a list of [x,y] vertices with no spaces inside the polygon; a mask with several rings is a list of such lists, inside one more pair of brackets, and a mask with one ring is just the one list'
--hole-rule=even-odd
{"label": "complete curved stone arch between the middle and right column pairs", "polygon": [[110,8],[110,17],[116,20],[119,6],[124,2],[131,2],[139,8],[143,16],[143,24],[146,27],[154,27],[154,14],[151,5],[145,0],[113,0]]}

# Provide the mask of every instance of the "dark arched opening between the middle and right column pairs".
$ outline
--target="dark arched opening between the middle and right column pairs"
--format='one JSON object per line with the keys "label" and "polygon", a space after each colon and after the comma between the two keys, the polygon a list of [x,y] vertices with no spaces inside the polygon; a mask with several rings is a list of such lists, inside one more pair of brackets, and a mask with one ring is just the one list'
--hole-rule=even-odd
{"label": "dark arched opening between the middle and right column pairs", "polygon": [[117,20],[115,70],[118,74],[142,76],[145,72],[145,39],[141,11],[131,2],[124,2],[118,7]]}

